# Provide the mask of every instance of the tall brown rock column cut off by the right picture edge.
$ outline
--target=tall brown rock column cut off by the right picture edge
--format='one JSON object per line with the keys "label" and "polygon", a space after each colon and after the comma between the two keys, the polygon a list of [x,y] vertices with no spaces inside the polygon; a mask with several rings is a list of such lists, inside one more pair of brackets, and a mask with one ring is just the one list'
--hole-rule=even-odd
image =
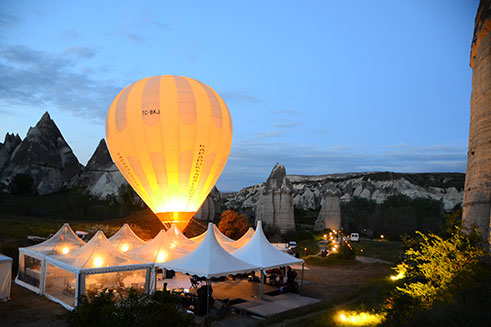
{"label": "tall brown rock column cut off by the right picture edge", "polygon": [[462,222],[491,248],[491,1],[481,0],[471,46],[471,121]]}

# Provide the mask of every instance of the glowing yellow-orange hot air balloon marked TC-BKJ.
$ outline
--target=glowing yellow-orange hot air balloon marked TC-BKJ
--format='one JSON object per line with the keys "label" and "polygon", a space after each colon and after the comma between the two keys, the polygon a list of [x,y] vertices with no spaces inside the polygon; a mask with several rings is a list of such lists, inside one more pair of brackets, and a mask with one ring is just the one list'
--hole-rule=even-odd
{"label": "glowing yellow-orange hot air balloon marked TC-BKJ", "polygon": [[106,140],[124,178],[160,221],[184,230],[227,162],[232,119],[208,85],[154,76],[116,96]]}

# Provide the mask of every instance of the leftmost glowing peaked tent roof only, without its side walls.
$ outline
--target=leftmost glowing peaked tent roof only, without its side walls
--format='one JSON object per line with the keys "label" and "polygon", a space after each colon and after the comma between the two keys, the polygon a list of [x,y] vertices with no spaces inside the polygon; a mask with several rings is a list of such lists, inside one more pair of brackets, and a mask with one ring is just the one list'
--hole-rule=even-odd
{"label": "leftmost glowing peaked tent roof only, without its side walls", "polygon": [[73,232],[69,224],[65,223],[55,235],[51,236],[46,241],[25,247],[24,249],[45,255],[57,255],[69,253],[84,245],[85,242]]}

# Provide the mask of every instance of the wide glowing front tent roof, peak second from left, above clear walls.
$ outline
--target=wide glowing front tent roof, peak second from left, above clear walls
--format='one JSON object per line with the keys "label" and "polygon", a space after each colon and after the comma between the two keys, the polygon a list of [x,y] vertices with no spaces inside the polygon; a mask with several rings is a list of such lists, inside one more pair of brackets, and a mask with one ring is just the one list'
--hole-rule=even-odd
{"label": "wide glowing front tent roof, peak second from left, above clear walls", "polygon": [[81,248],[65,255],[53,256],[52,258],[75,267],[78,270],[145,263],[116,249],[102,231],[98,231]]}

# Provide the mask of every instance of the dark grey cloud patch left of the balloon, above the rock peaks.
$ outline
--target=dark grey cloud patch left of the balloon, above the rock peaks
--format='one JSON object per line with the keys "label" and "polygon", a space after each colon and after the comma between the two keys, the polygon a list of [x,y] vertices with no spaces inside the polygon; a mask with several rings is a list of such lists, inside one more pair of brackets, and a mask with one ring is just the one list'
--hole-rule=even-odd
{"label": "dark grey cloud patch left of the balloon, above the rock peaks", "polygon": [[[90,50],[77,54],[87,57]],[[84,72],[78,64],[78,60],[63,54],[25,46],[0,47],[2,105],[54,107],[88,120],[103,121],[121,87]]]}

